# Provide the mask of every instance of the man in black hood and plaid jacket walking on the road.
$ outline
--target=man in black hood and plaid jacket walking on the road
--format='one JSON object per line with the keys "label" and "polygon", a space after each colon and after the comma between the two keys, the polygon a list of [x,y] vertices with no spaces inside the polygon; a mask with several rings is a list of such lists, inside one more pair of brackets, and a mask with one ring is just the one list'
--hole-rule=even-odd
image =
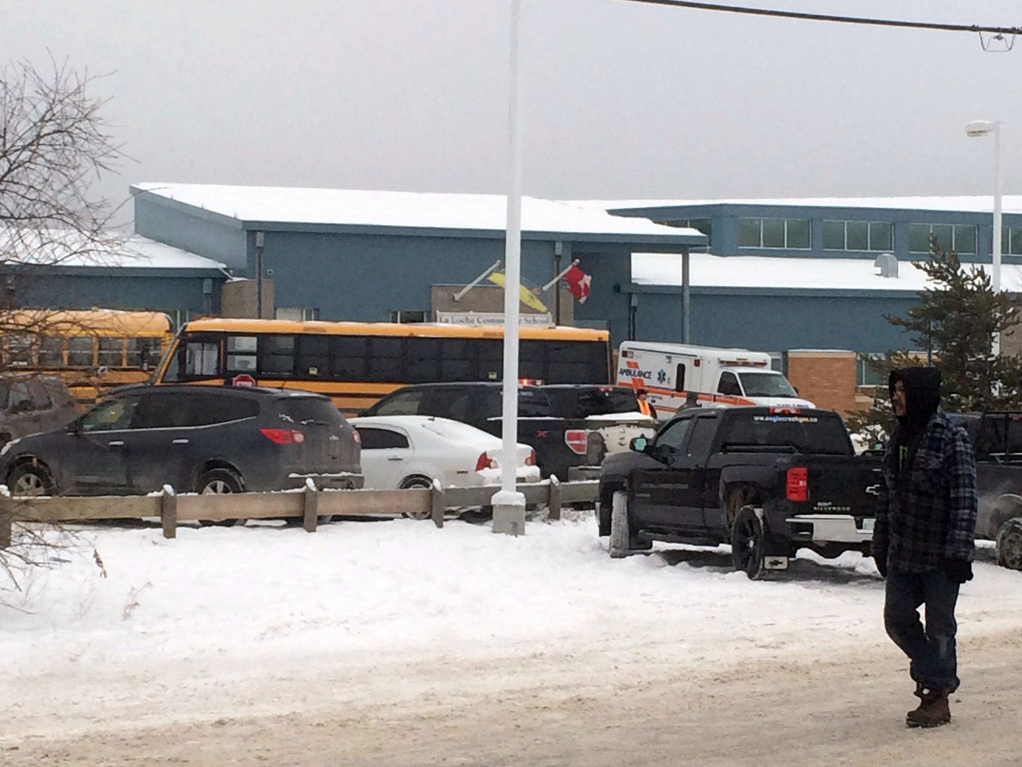
{"label": "man in black hood and plaid jacket walking on the road", "polygon": [[972,580],[976,464],[965,430],[940,409],[939,370],[895,370],[888,386],[897,423],[884,452],[873,557],[887,580],[884,627],[909,656],[920,697],[905,723],[936,727],[950,721],[947,698],[959,686],[955,604]]}

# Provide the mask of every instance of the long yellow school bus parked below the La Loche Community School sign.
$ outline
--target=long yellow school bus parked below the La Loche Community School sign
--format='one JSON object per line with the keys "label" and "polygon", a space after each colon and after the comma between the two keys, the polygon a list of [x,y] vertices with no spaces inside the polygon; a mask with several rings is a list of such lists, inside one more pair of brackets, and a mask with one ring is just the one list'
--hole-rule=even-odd
{"label": "long yellow school bus parked below the La Loche Community School sign", "polygon": [[[154,382],[301,389],[345,415],[408,384],[500,380],[503,327],[429,323],[200,319],[187,323]],[[521,378],[607,384],[606,330],[523,327]]]}

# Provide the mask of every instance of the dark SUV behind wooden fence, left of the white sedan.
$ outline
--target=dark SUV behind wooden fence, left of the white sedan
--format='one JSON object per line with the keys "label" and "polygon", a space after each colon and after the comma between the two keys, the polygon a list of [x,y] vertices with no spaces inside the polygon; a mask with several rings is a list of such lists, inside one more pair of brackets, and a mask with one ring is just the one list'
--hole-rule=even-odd
{"label": "dark SUV behind wooden fence, left of the white sedan", "polygon": [[69,425],[14,440],[0,478],[14,495],[239,493],[326,476],[361,487],[358,437],[327,397],[213,387],[128,387]]}

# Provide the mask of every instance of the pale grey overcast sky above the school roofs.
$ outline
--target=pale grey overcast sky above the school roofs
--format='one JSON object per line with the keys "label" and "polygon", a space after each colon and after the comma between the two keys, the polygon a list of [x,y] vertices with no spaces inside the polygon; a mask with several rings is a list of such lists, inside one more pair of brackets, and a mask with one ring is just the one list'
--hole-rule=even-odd
{"label": "pale grey overcast sky above the school roofs", "polygon": [[[747,0],[1022,25],[1018,0]],[[0,0],[0,56],[93,73],[137,181],[502,192],[510,0]],[[523,0],[526,194],[1022,192],[1022,40]]]}

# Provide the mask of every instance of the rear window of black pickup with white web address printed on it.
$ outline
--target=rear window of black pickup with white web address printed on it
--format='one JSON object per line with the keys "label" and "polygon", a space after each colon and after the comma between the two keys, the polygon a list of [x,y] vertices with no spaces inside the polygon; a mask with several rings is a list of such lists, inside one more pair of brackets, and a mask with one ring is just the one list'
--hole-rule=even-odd
{"label": "rear window of black pickup with white web address printed on it", "polygon": [[722,449],[789,448],[797,453],[852,455],[848,432],[835,413],[819,411],[728,414]]}

